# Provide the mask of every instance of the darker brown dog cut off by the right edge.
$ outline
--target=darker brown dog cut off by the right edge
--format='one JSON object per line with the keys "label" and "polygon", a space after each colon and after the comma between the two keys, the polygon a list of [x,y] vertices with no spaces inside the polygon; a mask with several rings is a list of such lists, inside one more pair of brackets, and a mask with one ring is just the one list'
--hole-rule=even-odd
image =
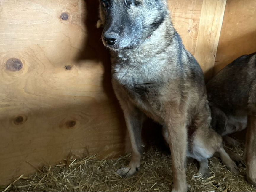
{"label": "darker brown dog cut off by the right edge", "polygon": [[225,136],[247,127],[247,179],[256,186],[256,52],[223,68],[207,83],[207,94],[216,132]]}

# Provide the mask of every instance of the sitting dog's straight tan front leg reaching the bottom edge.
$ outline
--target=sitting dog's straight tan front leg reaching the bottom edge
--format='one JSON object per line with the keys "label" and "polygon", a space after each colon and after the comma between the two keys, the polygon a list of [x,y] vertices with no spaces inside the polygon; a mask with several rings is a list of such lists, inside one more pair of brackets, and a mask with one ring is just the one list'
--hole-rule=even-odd
{"label": "sitting dog's straight tan front leg reaching the bottom edge", "polygon": [[173,186],[172,192],[187,191],[186,182],[186,152],[187,152],[187,131],[186,121],[181,115],[169,119],[167,124],[169,145],[172,154]]}

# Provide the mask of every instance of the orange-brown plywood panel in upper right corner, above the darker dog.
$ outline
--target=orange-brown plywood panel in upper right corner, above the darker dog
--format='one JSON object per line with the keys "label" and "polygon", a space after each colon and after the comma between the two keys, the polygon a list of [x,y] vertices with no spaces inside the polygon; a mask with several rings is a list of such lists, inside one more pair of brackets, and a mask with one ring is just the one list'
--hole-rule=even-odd
{"label": "orange-brown plywood panel in upper right corner, above the darker dog", "polygon": [[256,51],[256,0],[227,0],[214,74],[237,57]]}

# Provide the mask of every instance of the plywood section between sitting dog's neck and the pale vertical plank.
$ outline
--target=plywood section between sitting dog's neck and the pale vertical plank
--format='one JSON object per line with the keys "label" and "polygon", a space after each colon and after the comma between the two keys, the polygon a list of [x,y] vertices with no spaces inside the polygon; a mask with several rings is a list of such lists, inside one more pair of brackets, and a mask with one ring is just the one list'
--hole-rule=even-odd
{"label": "plywood section between sitting dog's neck and the pale vertical plank", "polygon": [[203,0],[169,0],[172,23],[180,34],[186,49],[195,53]]}

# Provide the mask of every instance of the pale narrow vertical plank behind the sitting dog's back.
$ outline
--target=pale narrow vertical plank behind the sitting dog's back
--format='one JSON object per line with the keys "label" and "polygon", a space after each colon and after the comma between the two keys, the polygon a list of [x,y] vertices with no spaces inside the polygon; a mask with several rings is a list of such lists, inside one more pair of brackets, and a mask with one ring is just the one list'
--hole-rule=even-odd
{"label": "pale narrow vertical plank behind the sitting dog's back", "polygon": [[212,76],[226,0],[203,0],[195,57],[206,79]]}

